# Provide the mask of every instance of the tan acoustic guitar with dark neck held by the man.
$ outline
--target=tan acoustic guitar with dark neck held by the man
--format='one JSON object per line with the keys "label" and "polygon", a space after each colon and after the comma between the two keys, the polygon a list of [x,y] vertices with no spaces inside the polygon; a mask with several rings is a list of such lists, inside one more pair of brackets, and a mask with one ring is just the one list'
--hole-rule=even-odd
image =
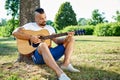
{"label": "tan acoustic guitar with dark neck held by the man", "polygon": [[[26,34],[34,35],[34,36],[40,36],[39,39],[47,43],[48,46],[51,46],[52,38],[67,35],[67,32],[50,35],[48,30],[46,29],[42,29],[39,31],[23,30],[23,32]],[[84,31],[81,31],[81,30],[75,31],[75,35],[81,35],[81,34],[84,34]],[[39,44],[31,43],[29,40],[22,40],[18,38],[16,40],[17,40],[18,51],[23,55],[32,53],[39,45]]]}

